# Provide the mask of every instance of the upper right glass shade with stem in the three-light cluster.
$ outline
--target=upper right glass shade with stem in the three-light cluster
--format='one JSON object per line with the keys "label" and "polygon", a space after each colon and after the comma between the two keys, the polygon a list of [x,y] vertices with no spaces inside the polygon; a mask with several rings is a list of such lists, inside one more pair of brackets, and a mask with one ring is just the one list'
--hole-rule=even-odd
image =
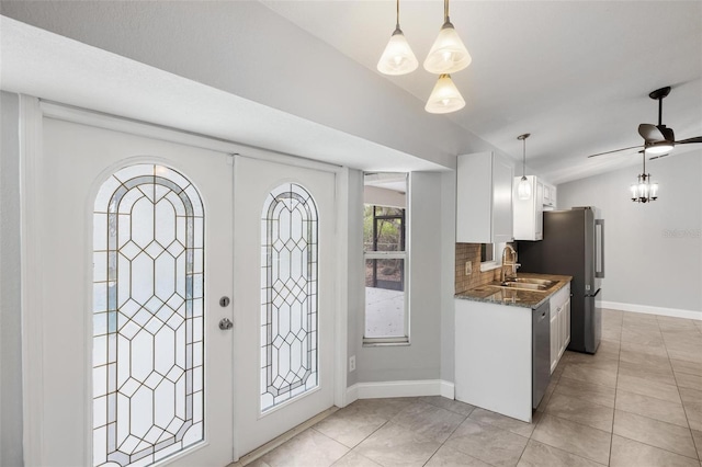
{"label": "upper right glass shade with stem in the three-light cluster", "polygon": [[424,60],[424,69],[434,75],[460,71],[471,65],[473,60],[449,20],[449,0],[443,1],[443,26]]}

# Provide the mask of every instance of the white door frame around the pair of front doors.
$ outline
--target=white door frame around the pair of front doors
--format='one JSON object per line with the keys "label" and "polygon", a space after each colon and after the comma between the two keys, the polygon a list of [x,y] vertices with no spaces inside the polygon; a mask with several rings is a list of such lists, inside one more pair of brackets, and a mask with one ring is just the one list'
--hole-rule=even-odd
{"label": "white door frame around the pair of front doors", "polygon": [[[42,186],[43,122],[45,117],[95,126],[137,136],[162,139],[170,143],[199,147],[231,155],[241,155],[254,159],[268,160],[288,166],[316,169],[333,173],[336,176],[337,209],[336,236],[340,246],[348,244],[349,239],[349,169],[309,159],[303,159],[261,148],[239,145],[233,141],[214,139],[205,135],[183,133],[183,130],[157,126],[144,122],[127,119],[114,115],[97,113],[90,110],[69,107],[58,103],[42,101],[37,98],[20,94],[20,230],[21,230],[21,318],[22,318],[22,411],[23,411],[23,448],[24,462],[27,465],[45,465],[42,446],[43,441],[43,331],[44,304],[42,303],[43,275],[41,251],[41,232],[43,221],[38,213],[43,207],[39,196]],[[337,407],[347,405],[347,354],[348,354],[348,260],[346,248],[337,249],[336,277],[333,282],[333,403]],[[86,343],[88,345],[88,343]],[[87,353],[90,355],[91,353]],[[89,358],[89,356],[88,356]],[[89,362],[84,362],[88,367]],[[236,356],[235,356],[236,365]],[[89,394],[90,378],[83,384],[83,391]],[[236,400],[236,394],[234,394]],[[90,426],[88,411],[84,426]],[[234,422],[233,459],[238,459],[236,442],[236,413]],[[86,438],[88,436],[86,435]]]}

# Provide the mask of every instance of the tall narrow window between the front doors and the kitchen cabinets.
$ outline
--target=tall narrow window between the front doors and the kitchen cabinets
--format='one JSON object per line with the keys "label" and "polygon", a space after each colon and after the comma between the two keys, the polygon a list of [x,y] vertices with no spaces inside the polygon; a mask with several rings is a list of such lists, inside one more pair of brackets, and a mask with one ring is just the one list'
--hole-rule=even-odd
{"label": "tall narrow window between the front doors and the kitchen cabinets", "polygon": [[407,174],[373,173],[364,179],[364,343],[406,343]]}

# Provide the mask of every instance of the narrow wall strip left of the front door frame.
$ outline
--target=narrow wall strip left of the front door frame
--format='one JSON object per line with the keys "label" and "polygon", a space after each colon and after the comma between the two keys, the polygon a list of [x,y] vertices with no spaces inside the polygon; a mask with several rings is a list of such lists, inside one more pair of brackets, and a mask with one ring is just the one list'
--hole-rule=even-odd
{"label": "narrow wall strip left of the front door frame", "polygon": [[16,94],[0,92],[0,465],[22,465],[20,147]]}

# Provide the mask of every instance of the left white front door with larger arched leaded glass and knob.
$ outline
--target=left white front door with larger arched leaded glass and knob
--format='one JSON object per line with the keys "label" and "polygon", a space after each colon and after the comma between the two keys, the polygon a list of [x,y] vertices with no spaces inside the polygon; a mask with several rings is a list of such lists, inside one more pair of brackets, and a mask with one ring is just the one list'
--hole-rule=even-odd
{"label": "left white front door with larger arched leaded glass and knob", "polygon": [[227,465],[231,156],[53,118],[43,148],[37,464]]}

